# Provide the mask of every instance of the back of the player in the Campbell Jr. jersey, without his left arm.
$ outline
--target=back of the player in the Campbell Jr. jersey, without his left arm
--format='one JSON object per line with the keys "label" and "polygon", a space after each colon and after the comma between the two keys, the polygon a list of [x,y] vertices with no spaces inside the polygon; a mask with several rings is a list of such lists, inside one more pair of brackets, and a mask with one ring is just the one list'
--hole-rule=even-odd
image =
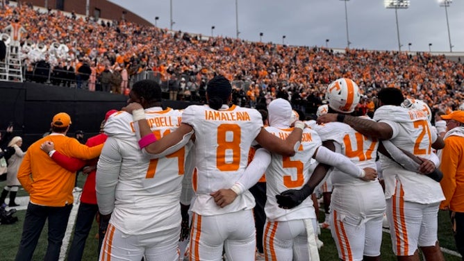
{"label": "back of the player in the Campbell Jr. jersey, without his left arm", "polygon": [[[149,108],[145,114],[158,139],[181,123],[179,110]],[[172,226],[173,219],[179,219],[180,223],[178,202],[191,144],[163,158],[150,160],[140,151],[136,128],[132,115],[126,112],[112,115],[105,125],[108,141],[114,139],[122,156],[113,216],[119,219],[115,223],[122,224],[123,231],[149,233]]]}

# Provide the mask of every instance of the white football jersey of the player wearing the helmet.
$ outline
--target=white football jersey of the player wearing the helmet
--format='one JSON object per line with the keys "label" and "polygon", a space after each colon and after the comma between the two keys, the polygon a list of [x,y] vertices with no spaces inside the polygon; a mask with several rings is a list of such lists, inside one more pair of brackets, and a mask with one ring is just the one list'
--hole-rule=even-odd
{"label": "white football jersey of the player wearing the helmet", "polygon": [[[363,117],[370,119],[369,117]],[[317,134],[320,135],[322,141],[333,140],[340,145],[340,153],[346,155],[351,162],[356,166],[364,169],[370,167],[376,169],[376,155],[379,142],[376,139],[371,139],[358,133],[348,124],[340,122],[330,122],[322,125],[317,129]],[[366,181],[360,178],[354,178],[349,174],[345,174],[340,169],[333,168],[331,172],[332,185],[365,185]],[[370,182],[378,182],[377,180]]]}

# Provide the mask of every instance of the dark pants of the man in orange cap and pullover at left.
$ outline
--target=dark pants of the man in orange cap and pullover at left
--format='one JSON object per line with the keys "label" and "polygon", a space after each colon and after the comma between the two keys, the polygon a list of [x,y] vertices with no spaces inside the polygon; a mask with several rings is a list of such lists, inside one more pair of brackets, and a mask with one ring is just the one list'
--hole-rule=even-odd
{"label": "dark pants of the man in orange cap and pullover at left", "polygon": [[29,202],[24,217],[21,243],[16,254],[17,261],[32,260],[32,255],[37,246],[40,233],[44,228],[45,221],[49,220],[49,233],[47,253],[44,260],[58,260],[60,249],[65,237],[67,220],[71,213],[72,205],[63,207],[47,207],[35,205]]}

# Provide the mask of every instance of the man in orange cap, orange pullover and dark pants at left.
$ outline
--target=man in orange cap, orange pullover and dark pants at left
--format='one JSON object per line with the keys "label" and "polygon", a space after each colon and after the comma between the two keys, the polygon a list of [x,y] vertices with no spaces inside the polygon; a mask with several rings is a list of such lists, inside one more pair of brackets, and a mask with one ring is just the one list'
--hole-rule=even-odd
{"label": "man in orange cap, orange pullover and dark pants at left", "polygon": [[[67,137],[71,117],[60,112],[51,121],[51,134],[34,142],[27,150],[17,174],[21,185],[29,193],[30,202],[24,218],[21,243],[16,260],[31,260],[45,221],[49,221],[47,253],[44,260],[58,260],[69,213],[74,198],[74,178],[76,173],[60,167],[47,153],[40,149],[44,142],[55,145],[64,155],[83,160],[99,156],[103,144],[92,148]],[[54,153],[54,151],[50,151]]]}

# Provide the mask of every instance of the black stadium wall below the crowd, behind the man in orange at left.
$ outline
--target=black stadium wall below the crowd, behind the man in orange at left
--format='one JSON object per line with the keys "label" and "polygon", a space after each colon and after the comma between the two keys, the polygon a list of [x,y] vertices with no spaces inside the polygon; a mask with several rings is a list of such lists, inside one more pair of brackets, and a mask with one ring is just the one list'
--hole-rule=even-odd
{"label": "black stadium wall below the crowd, behind the man in orange at left", "polygon": [[[13,136],[21,136],[23,149],[26,149],[49,131],[53,115],[67,112],[72,120],[67,135],[74,137],[76,130],[83,130],[87,139],[99,132],[108,110],[120,110],[126,101],[127,96],[121,94],[0,81],[0,130],[4,133],[12,122]],[[174,109],[183,109],[188,105],[190,103],[184,101],[163,101],[163,107]]]}

